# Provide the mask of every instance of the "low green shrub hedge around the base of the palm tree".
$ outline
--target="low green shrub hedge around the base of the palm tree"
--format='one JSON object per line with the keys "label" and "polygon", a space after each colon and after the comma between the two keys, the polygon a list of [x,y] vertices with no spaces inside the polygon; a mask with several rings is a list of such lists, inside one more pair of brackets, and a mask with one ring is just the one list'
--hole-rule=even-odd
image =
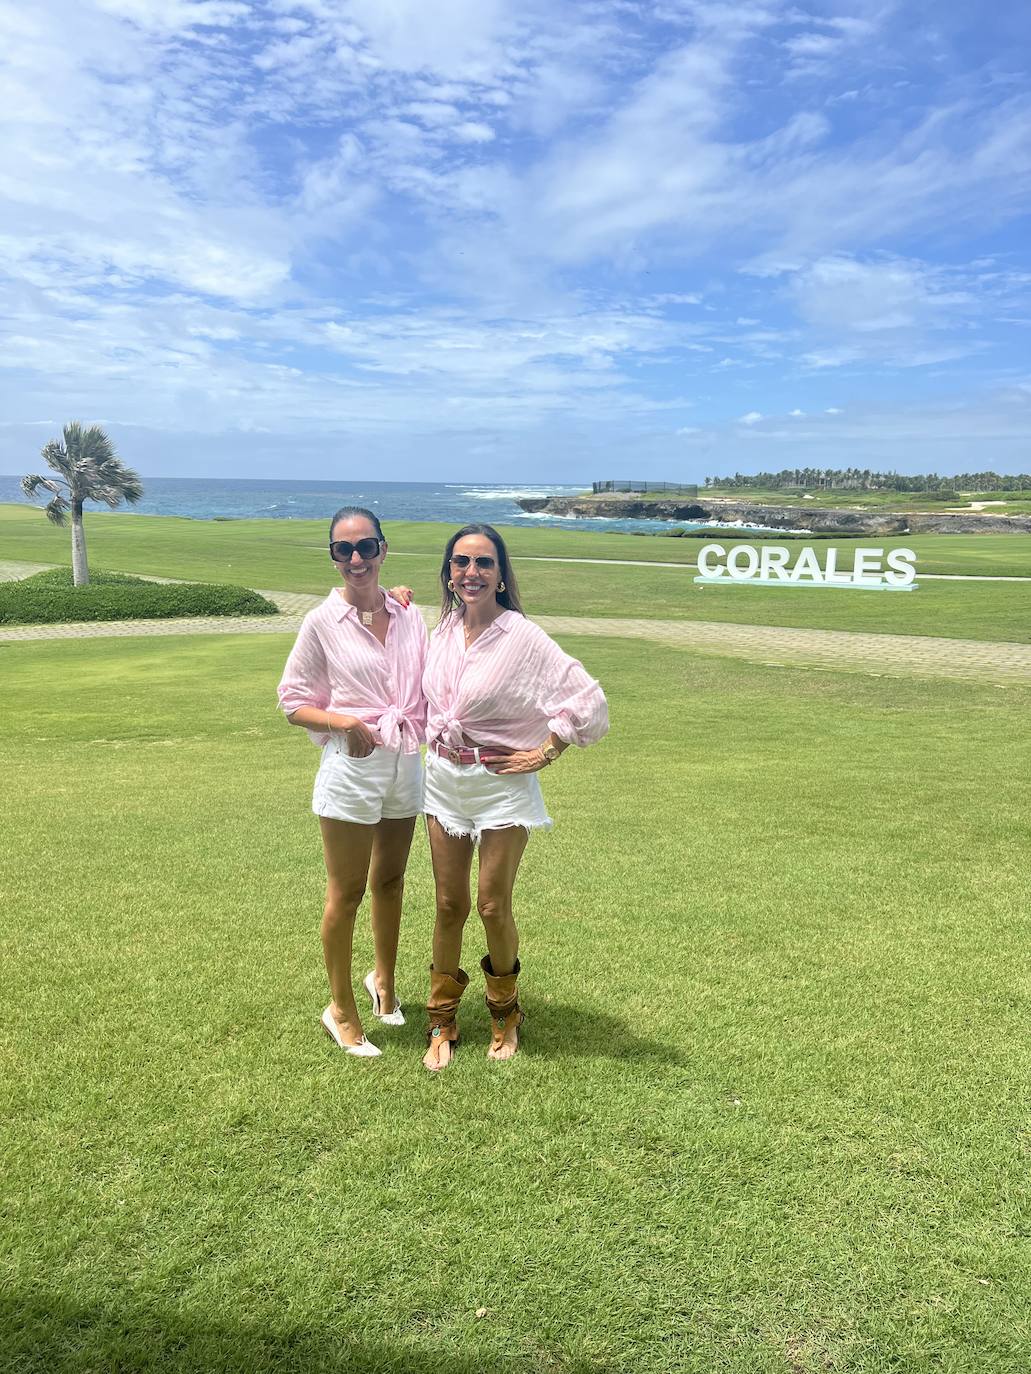
{"label": "low green shrub hedge around the base of the palm tree", "polygon": [[247,587],[223,583],[148,583],[128,573],[91,572],[74,587],[70,567],[48,567],[0,583],[0,625],[87,620],[170,620],[179,616],[275,616],[278,607]]}

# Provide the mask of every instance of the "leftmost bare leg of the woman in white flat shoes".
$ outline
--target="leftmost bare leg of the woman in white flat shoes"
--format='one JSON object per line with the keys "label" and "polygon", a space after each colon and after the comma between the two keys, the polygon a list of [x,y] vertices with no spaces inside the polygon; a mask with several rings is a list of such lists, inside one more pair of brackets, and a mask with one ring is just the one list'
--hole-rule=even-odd
{"label": "leftmost bare leg of the woman in white flat shoes", "polygon": [[326,908],[322,916],[322,952],[330,977],[330,1010],[345,1044],[362,1039],[362,1018],[351,985],[351,947],[355,916],[366,893],[373,856],[374,826],[319,816],[326,859]]}

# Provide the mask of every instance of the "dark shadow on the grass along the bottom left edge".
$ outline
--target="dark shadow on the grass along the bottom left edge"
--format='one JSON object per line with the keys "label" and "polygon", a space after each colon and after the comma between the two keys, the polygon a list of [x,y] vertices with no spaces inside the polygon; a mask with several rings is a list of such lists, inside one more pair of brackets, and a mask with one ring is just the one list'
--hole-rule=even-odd
{"label": "dark shadow on the grass along the bottom left edge", "polygon": [[[448,1344],[459,1338],[448,1333]],[[426,1334],[406,1340],[352,1337],[340,1325],[263,1325],[194,1318],[140,1304],[91,1307],[38,1290],[0,1303],[4,1374],[528,1374],[526,1360],[498,1360],[477,1351],[445,1352]],[[573,1359],[564,1374],[587,1374]]]}

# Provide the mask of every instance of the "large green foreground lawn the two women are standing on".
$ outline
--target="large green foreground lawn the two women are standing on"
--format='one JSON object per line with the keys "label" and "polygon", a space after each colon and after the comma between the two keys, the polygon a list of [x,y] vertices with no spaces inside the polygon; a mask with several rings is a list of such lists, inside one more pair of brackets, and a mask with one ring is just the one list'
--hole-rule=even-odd
{"label": "large green foreground lawn the two women are standing on", "polygon": [[0,649],[4,1369],[1024,1374],[1031,692],[566,646],[525,1048],[474,977],[441,1079],[421,837],[410,1025],[318,1026],[286,639]]}

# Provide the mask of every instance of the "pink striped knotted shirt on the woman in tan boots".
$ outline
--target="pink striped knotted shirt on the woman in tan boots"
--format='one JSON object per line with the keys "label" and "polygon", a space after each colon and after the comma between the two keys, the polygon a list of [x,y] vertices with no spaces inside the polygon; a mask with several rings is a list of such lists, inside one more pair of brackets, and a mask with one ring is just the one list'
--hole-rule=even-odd
{"label": "pink striped knotted shirt on the woman in tan boots", "polygon": [[583,664],[539,625],[503,610],[466,649],[462,617],[430,635],[426,739],[535,749],[554,731],[569,745],[592,745],[609,728],[609,708]]}

